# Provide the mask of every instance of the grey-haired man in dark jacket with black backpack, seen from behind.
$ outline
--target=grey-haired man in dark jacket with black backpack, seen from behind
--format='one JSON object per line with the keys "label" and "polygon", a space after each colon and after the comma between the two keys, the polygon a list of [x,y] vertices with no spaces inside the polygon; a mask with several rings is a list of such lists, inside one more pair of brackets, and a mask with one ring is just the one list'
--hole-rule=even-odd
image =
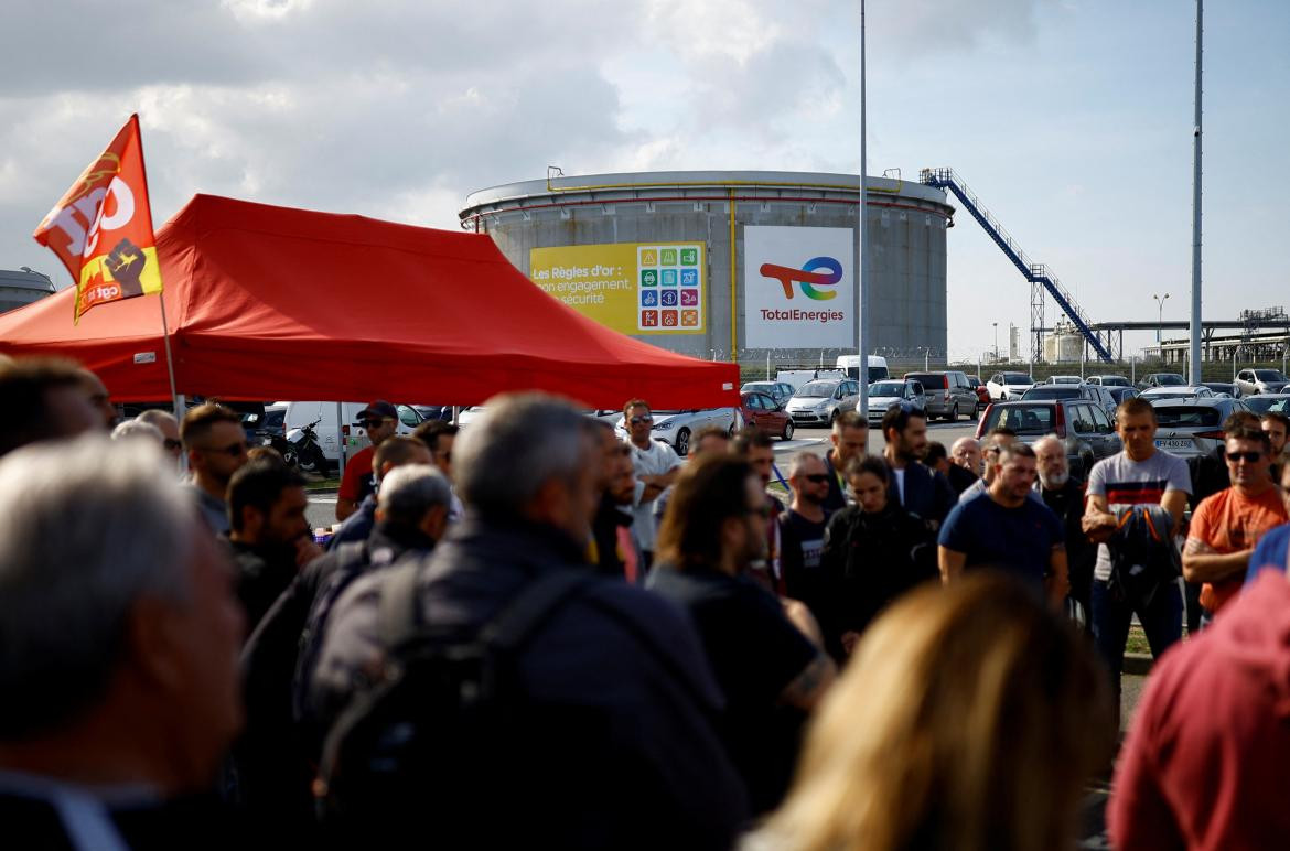
{"label": "grey-haired man in dark jacket with black backpack, seen from behind", "polygon": [[316,665],[347,685],[317,789],[339,842],[730,847],[746,815],[693,625],[586,562],[595,427],[490,400],[454,446],[466,518],[337,605]]}

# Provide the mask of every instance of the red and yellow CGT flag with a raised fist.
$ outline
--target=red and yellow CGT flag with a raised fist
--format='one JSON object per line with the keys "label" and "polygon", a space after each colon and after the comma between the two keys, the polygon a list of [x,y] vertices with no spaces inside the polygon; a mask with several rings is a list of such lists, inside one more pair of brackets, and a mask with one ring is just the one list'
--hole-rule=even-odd
{"label": "red and yellow CGT flag with a raised fist", "polygon": [[32,235],[76,281],[76,315],[98,304],[161,291],[139,116],[67,190]]}

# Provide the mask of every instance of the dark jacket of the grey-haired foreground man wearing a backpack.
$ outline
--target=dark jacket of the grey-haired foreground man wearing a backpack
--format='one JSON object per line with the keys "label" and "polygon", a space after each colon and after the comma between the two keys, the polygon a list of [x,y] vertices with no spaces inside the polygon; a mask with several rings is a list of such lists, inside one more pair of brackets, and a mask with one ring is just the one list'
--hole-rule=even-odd
{"label": "dark jacket of the grey-haired foreground man wearing a backpack", "polygon": [[[551,527],[467,516],[423,560],[419,618],[436,634],[470,638],[555,570],[588,570],[580,542]],[[338,601],[312,678],[316,705],[352,694],[381,658],[383,579],[365,576]],[[475,847],[730,847],[747,803],[713,729],[720,692],[680,610],[641,588],[595,579],[528,637],[515,670],[525,710],[506,734],[517,744],[504,765],[462,772],[490,785],[463,783],[457,806],[433,810],[426,824],[435,839],[445,847],[461,836]]]}

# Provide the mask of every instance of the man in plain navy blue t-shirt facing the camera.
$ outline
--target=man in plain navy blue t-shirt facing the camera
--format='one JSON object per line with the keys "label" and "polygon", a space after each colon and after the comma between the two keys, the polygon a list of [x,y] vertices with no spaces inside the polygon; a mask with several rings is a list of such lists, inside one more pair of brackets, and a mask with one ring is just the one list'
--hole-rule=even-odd
{"label": "man in plain navy blue t-shirt facing the camera", "polygon": [[991,463],[989,490],[958,503],[940,527],[940,578],[949,583],[965,570],[1002,570],[1042,589],[1060,609],[1068,589],[1062,521],[1047,505],[1029,499],[1035,450],[1014,444]]}

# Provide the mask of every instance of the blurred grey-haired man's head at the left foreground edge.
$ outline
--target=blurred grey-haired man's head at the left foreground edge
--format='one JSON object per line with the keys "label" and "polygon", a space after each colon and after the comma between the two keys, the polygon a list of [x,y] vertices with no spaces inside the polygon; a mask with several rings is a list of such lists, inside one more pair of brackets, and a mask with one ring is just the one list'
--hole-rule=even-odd
{"label": "blurred grey-haired man's head at the left foreground edge", "polygon": [[161,459],[102,433],[0,459],[0,768],[173,794],[236,734],[241,610]]}

